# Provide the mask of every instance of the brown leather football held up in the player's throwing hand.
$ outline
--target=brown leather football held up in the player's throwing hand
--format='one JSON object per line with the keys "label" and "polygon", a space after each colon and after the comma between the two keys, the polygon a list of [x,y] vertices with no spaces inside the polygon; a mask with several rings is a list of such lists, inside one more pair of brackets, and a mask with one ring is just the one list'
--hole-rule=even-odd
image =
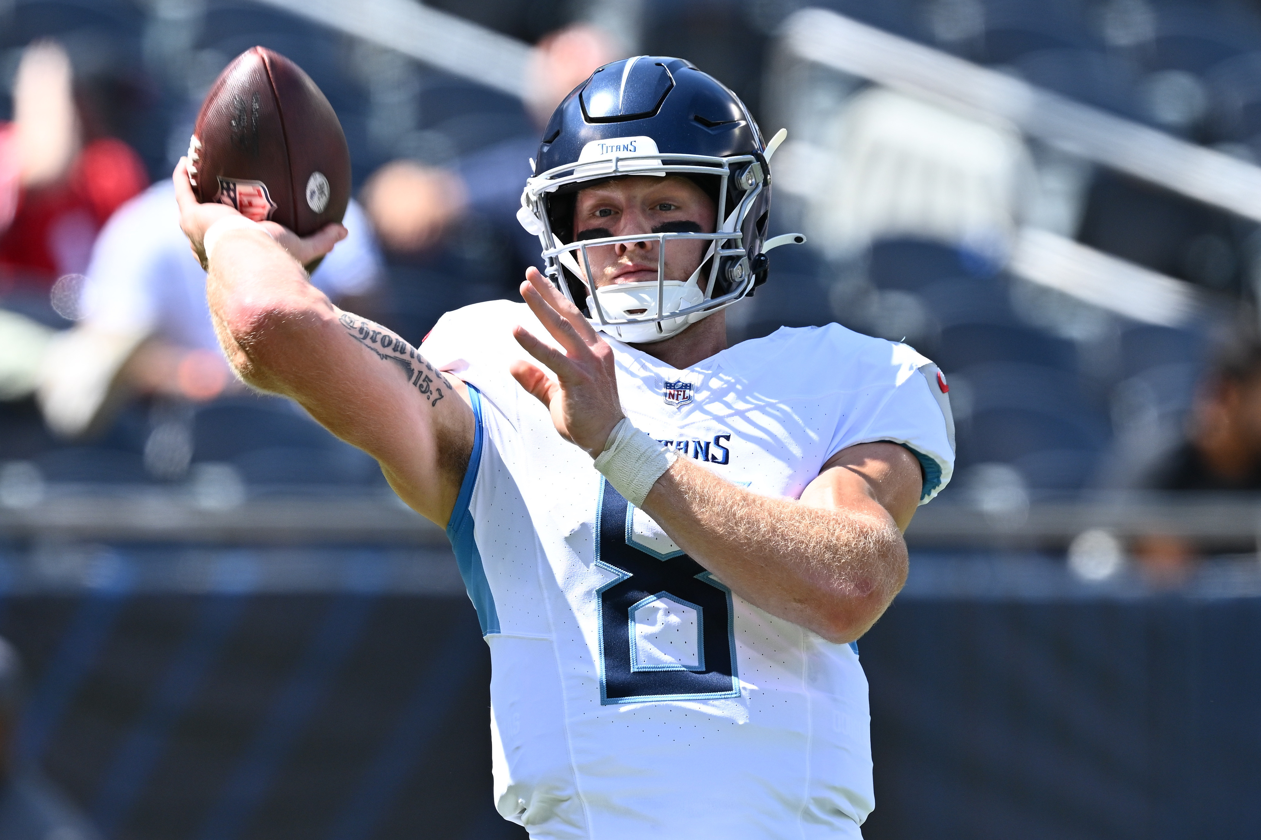
{"label": "brown leather football held up in the player's throwing hand", "polygon": [[188,159],[198,200],[300,237],[340,222],[351,200],[351,154],[333,106],[300,67],[262,47],[211,86]]}

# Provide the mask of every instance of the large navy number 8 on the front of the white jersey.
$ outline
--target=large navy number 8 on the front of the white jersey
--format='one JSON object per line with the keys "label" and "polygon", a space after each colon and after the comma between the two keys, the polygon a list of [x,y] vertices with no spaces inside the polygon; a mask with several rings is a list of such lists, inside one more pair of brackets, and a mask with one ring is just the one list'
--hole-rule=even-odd
{"label": "large navy number 8 on the front of the white jersey", "polygon": [[[731,591],[677,550],[636,538],[636,509],[600,481],[600,703],[740,695]],[[643,516],[642,511],[639,514]]]}

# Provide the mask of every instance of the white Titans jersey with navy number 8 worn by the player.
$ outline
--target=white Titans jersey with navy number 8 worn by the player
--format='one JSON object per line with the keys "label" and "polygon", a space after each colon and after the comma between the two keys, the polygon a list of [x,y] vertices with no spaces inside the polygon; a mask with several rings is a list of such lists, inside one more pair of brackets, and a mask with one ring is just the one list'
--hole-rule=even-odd
{"label": "white Titans jersey with navy number 8 worn by the player", "polygon": [[[448,535],[491,647],[497,807],[531,837],[855,837],[873,807],[868,686],[837,645],[734,594],[566,443],[508,373],[523,304],[445,315],[421,350],[469,383],[477,436]],[[676,370],[610,340],[630,421],[716,475],[798,497],[893,441],[950,480],[936,368],[839,325]]]}

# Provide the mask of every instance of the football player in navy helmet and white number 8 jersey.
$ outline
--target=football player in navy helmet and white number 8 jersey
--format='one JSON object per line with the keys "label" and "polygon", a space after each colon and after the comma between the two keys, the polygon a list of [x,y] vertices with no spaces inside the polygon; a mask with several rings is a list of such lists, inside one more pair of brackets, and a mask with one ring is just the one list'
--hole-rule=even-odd
{"label": "football player in navy helmet and white number 8 jersey", "polygon": [[546,275],[419,349],[306,282],[339,228],[260,227],[175,171],[241,378],[446,528],[491,649],[496,803],[533,837],[857,839],[873,807],[854,642],[952,423],[905,345],[832,324],[728,346],[783,241],[774,145],[685,60],[600,68],[522,196]]}

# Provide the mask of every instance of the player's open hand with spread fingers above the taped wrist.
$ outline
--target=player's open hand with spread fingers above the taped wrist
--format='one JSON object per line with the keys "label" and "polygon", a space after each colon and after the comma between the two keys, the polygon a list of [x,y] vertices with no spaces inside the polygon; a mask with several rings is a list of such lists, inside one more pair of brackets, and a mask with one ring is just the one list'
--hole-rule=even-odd
{"label": "player's open hand with spread fingers above the taped wrist", "polygon": [[526,271],[521,296],[564,353],[517,326],[513,338],[526,353],[547,365],[556,379],[528,361],[513,361],[512,375],[547,407],[561,437],[594,458],[604,451],[613,427],[624,417],[613,348],[537,268]]}

